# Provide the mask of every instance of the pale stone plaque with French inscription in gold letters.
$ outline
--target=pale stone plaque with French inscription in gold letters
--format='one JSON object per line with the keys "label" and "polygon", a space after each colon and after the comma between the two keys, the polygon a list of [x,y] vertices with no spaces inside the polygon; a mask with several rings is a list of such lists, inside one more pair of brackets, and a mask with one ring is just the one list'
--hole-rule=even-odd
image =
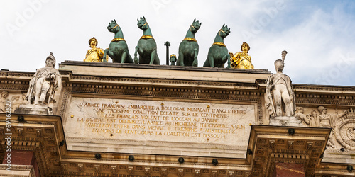
{"label": "pale stone plaque with French inscription in gold letters", "polygon": [[72,97],[67,148],[244,158],[255,106]]}

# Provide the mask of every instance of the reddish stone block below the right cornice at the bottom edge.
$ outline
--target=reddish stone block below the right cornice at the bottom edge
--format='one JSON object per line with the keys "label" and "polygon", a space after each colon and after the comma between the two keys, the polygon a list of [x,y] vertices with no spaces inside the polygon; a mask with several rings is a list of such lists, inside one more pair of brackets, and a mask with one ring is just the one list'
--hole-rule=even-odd
{"label": "reddish stone block below the right cornice at the bottom edge", "polygon": [[275,163],[274,177],[290,176],[304,177],[305,168],[303,164],[295,163]]}

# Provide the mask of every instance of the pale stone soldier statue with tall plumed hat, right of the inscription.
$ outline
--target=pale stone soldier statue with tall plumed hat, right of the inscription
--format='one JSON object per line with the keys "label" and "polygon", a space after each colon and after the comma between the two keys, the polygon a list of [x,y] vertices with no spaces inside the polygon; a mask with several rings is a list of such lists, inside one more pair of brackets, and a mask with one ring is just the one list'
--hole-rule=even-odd
{"label": "pale stone soldier statue with tall plumed hat, right of the inscription", "polygon": [[266,108],[271,110],[271,115],[274,116],[295,115],[295,94],[291,79],[283,74],[286,53],[283,51],[283,60],[275,61],[276,73],[269,76],[266,81]]}

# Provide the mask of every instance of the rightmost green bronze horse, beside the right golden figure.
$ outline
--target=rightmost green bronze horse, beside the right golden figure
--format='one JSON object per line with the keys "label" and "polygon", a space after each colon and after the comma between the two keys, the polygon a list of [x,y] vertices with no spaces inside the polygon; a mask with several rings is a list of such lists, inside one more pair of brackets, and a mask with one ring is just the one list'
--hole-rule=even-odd
{"label": "rightmost green bronze horse, beside the right golden figure", "polygon": [[209,47],[207,59],[204,62],[204,67],[224,67],[224,63],[228,62],[226,68],[231,68],[231,55],[229,55],[226,45],[224,44],[224,38],[226,38],[231,29],[228,26],[223,25],[214,38],[214,43]]}

